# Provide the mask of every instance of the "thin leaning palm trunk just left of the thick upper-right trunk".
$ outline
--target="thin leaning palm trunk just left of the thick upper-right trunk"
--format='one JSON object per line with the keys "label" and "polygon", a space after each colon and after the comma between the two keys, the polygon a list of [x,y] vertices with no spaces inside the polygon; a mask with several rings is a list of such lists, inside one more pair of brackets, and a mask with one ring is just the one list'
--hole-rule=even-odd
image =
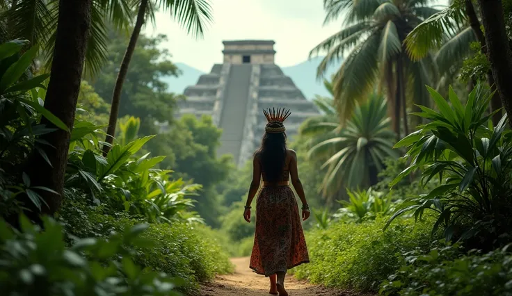
{"label": "thin leaning palm trunk just left of the thick upper-right trunk", "polygon": [[[470,25],[471,28],[473,29],[473,33],[477,40],[480,42],[481,52],[483,54],[487,54],[486,38],[483,35],[483,32],[480,28],[480,21],[477,17],[477,13],[474,11],[474,6],[471,0],[465,1],[465,8],[467,18],[470,20]],[[487,73],[487,82],[489,83],[490,89],[495,92],[493,94],[493,97],[490,99],[490,112],[494,112],[495,110],[502,108],[502,101],[501,98],[499,97],[499,92],[496,91],[496,83],[492,71],[489,71]],[[501,119],[502,116],[499,113],[496,113],[492,119],[493,124],[496,125]]]}

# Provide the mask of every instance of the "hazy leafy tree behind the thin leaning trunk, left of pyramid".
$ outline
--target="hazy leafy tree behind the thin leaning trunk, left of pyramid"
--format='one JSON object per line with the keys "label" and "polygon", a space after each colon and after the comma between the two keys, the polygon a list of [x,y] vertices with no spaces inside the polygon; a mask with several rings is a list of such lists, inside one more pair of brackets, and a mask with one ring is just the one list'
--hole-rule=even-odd
{"label": "hazy leafy tree behind the thin leaning trunk, left of pyramid", "polygon": [[[109,46],[107,58],[109,63],[102,67],[97,79],[90,84],[99,97],[111,103],[112,89],[117,79],[117,69],[122,61],[122,53],[129,42],[129,36],[115,29],[109,29]],[[182,96],[168,92],[168,83],[164,77],[177,76],[179,69],[170,60],[168,50],[162,44],[167,41],[165,35],[147,37],[139,35],[134,56],[131,57],[130,69],[122,87],[118,117],[126,115],[141,118],[141,133],[156,133],[154,122],[170,122],[175,111],[175,102]],[[111,106],[109,106],[109,111]],[[106,113],[106,122],[109,113]],[[150,141],[154,142],[154,141]]]}

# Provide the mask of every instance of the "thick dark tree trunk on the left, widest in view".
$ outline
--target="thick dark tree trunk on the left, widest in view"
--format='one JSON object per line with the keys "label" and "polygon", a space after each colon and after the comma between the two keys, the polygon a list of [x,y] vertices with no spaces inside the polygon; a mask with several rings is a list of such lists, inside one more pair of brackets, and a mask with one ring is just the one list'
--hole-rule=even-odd
{"label": "thick dark tree trunk on the left, widest in view", "polygon": [[[73,129],[89,38],[91,3],[92,0],[61,0],[58,8],[54,58],[45,108],[62,120],[70,131]],[[55,127],[45,117],[42,117],[41,123],[47,127]],[[42,140],[54,146],[42,146],[45,147],[52,167],[36,153],[29,162],[28,171],[33,186],[44,186],[58,192],[58,195],[43,190],[39,192],[48,204],[48,207],[42,206],[42,213],[53,215],[62,202],[70,133],[58,129],[43,135]]]}

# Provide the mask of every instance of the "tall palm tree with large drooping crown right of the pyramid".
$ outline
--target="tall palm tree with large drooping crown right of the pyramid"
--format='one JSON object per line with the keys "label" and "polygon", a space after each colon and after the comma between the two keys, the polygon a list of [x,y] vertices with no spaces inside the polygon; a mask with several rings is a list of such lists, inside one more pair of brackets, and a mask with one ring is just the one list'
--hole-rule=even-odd
{"label": "tall palm tree with large drooping crown right of the pyramid", "polygon": [[426,3],[418,0],[324,0],[325,23],[345,13],[345,27],[318,44],[310,56],[327,51],[318,67],[317,74],[322,76],[328,65],[349,51],[334,80],[335,102],[342,122],[349,119],[355,103],[365,100],[374,90],[378,80],[380,88],[387,89],[388,113],[395,133],[400,134],[401,117],[408,133],[406,94],[409,104],[427,104],[429,94],[424,85],[431,84],[429,73],[435,71],[431,60],[411,60],[403,47],[408,33],[438,12]]}

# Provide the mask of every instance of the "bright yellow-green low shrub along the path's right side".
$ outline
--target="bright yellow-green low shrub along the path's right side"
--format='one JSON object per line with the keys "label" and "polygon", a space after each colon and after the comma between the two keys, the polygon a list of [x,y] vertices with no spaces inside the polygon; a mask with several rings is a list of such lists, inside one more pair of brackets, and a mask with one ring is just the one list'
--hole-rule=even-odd
{"label": "bright yellow-green low shrub along the path's right side", "polygon": [[400,266],[399,255],[429,247],[429,221],[400,220],[383,232],[385,218],[360,224],[337,222],[307,233],[311,263],[294,270],[299,278],[326,286],[378,290]]}

